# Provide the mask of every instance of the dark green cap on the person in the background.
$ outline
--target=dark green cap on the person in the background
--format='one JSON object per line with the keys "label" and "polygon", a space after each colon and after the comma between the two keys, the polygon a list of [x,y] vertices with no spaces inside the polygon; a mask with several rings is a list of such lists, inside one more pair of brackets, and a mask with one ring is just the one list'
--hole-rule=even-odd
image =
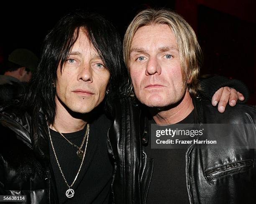
{"label": "dark green cap on the person in the background", "polygon": [[30,50],[16,49],[12,53],[10,53],[8,61],[22,67],[26,67],[31,70],[31,72],[33,72],[34,70],[36,70],[38,57],[36,57],[36,55]]}

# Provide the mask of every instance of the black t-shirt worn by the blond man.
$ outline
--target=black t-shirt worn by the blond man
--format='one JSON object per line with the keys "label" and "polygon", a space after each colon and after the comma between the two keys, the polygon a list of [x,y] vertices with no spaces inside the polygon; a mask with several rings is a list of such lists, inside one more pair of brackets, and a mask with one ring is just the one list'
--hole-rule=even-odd
{"label": "black t-shirt worn by the blond man", "polygon": [[[193,113],[194,110],[178,123],[194,123]],[[149,123],[151,125],[155,122],[152,119]],[[154,159],[154,170],[148,191],[147,204],[189,203],[185,177],[186,150],[186,148],[151,149],[151,134],[149,134],[145,151],[148,157]]]}

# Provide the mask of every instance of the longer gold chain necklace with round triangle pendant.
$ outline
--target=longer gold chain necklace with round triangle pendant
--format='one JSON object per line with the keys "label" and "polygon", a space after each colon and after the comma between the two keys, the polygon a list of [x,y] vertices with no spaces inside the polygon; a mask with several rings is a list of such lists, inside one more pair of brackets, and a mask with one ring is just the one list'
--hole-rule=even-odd
{"label": "longer gold chain necklace with round triangle pendant", "polygon": [[49,123],[48,123],[48,122],[47,122],[47,127],[48,127],[49,137],[50,137],[50,141],[51,141],[51,147],[52,147],[52,149],[53,149],[56,162],[57,162],[57,164],[58,164],[58,166],[59,166],[59,170],[60,170],[60,172],[61,172],[61,175],[62,175],[62,177],[63,177],[65,183],[67,184],[67,187],[69,187],[69,189],[67,189],[67,191],[66,191],[66,196],[67,196],[68,198],[72,198],[72,197],[74,196],[74,189],[72,189],[71,187],[74,185],[74,182],[77,180],[78,174],[79,174],[79,172],[80,172],[80,170],[81,170],[81,167],[82,167],[82,165],[83,165],[83,162],[84,162],[84,157],[85,157],[85,153],[86,153],[87,143],[88,143],[88,139],[89,139],[90,126],[89,126],[89,124],[88,124],[88,126],[87,126],[87,127],[88,127],[88,131],[87,131],[87,140],[86,140],[86,144],[85,144],[85,149],[84,149],[84,154],[83,154],[82,162],[81,162],[81,165],[80,165],[80,167],[79,167],[79,169],[78,169],[77,175],[76,175],[76,177],[74,178],[74,181],[73,181],[73,183],[72,183],[71,185],[69,185],[69,184],[67,183],[67,180],[66,180],[66,178],[65,178],[65,176],[64,176],[64,174],[63,174],[63,172],[62,172],[62,170],[61,170],[61,166],[60,166],[60,164],[59,164],[59,160],[58,160],[58,158],[57,158],[57,155],[56,155],[56,152],[55,152],[55,149],[54,149],[52,140],[51,140],[51,133],[50,133],[50,128],[49,128]]}

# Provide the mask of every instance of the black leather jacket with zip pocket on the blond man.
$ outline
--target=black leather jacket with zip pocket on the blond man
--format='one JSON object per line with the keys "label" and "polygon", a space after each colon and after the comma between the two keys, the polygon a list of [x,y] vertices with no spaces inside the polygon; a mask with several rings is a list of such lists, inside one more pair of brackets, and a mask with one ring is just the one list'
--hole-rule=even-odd
{"label": "black leather jacket with zip pocket on the blond man", "polygon": [[[221,114],[210,102],[203,100],[194,100],[194,107],[196,123],[252,124],[253,135],[241,129],[228,139],[244,142],[253,137],[256,142],[255,108],[227,106]],[[138,104],[127,98],[116,104],[115,111],[121,114],[116,116],[108,133],[109,152],[116,161],[112,184],[114,201],[118,204],[146,203],[154,169],[153,160],[143,152],[143,144],[148,141],[147,122]],[[187,195],[184,196],[189,197],[190,203],[256,203],[255,151],[190,146],[186,152]]]}

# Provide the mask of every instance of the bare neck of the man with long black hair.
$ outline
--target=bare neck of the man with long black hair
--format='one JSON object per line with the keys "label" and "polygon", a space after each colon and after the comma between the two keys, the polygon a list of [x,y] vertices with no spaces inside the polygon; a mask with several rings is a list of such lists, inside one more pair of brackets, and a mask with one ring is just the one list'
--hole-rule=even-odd
{"label": "bare neck of the man with long black hair", "polygon": [[[70,132],[77,132],[84,128],[87,124],[84,117],[76,117],[67,110],[67,107],[64,107],[61,102],[56,99],[56,114],[54,119],[54,126],[59,130],[61,133],[70,133]],[[81,116],[82,114],[80,114]],[[50,128],[55,130],[52,125]]]}

